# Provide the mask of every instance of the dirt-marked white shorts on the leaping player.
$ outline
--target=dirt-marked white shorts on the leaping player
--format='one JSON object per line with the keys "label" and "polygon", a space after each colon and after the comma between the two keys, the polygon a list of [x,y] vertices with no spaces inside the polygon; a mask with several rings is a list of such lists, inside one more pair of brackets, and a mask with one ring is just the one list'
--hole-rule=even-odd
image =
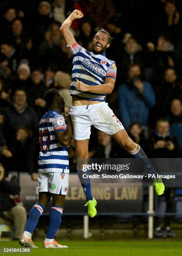
{"label": "dirt-marked white shorts on the leaping player", "polygon": [[73,125],[72,138],[75,140],[89,139],[92,125],[110,136],[124,129],[106,102],[71,106],[70,115]]}

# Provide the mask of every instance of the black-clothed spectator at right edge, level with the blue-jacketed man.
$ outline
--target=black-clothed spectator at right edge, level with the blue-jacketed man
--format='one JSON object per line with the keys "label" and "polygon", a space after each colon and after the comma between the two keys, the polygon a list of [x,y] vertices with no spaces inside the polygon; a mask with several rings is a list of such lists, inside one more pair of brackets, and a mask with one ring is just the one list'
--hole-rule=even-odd
{"label": "black-clothed spectator at right edge, level with the blue-jacketed man", "polygon": [[166,117],[170,111],[170,102],[174,98],[182,98],[182,84],[178,82],[176,70],[167,68],[162,83],[156,91],[156,118]]}

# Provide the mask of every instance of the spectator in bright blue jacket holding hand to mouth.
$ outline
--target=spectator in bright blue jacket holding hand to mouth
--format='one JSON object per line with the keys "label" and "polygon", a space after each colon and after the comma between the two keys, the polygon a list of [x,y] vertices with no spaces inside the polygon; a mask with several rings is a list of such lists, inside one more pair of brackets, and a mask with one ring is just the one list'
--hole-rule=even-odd
{"label": "spectator in bright blue jacket holding hand to mouth", "polygon": [[128,130],[133,122],[138,122],[148,134],[149,110],[155,105],[155,92],[152,85],[142,79],[139,65],[130,66],[128,82],[118,90],[118,103],[125,129]]}

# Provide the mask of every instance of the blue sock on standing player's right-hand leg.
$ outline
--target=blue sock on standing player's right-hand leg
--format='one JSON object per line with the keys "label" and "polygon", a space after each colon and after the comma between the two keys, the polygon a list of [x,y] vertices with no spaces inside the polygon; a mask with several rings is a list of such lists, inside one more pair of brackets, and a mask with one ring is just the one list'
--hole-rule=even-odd
{"label": "blue sock on standing player's right-hand leg", "polygon": [[63,212],[62,206],[52,206],[49,214],[49,227],[46,238],[53,239],[61,224],[61,216]]}

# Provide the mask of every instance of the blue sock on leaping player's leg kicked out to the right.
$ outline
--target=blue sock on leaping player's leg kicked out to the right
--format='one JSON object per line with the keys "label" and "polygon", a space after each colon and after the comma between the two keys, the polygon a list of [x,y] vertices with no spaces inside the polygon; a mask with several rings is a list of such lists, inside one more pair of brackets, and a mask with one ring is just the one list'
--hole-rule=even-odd
{"label": "blue sock on leaping player's leg kicked out to the right", "polygon": [[145,159],[143,163],[147,167],[147,170],[150,172],[150,174],[155,174],[155,176],[157,176],[157,172],[153,168],[152,164],[150,163],[143,149],[138,144],[136,145],[137,145],[136,148],[133,151],[129,151],[129,153],[135,156],[135,158],[137,159]]}

